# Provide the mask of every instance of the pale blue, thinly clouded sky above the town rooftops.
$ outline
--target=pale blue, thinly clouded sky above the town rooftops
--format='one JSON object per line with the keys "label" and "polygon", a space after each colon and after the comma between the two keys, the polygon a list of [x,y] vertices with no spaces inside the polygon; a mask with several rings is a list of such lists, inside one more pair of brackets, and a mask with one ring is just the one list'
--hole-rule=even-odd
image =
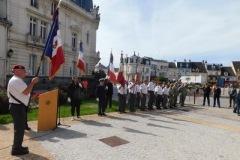
{"label": "pale blue, thinly clouded sky above the town rooftops", "polygon": [[99,6],[100,63],[121,51],[168,62],[240,61],[239,0],[93,0]]}

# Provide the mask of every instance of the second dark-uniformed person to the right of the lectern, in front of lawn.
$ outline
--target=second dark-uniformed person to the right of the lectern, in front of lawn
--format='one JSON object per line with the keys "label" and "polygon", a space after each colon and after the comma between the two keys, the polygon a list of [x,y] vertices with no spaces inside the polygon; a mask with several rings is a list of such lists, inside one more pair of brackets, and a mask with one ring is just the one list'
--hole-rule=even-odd
{"label": "second dark-uniformed person to the right of the lectern, in front of lawn", "polygon": [[98,115],[99,116],[106,116],[105,108],[106,108],[106,92],[107,88],[104,85],[104,78],[99,79],[100,84],[97,86],[96,89],[96,96],[98,99]]}

